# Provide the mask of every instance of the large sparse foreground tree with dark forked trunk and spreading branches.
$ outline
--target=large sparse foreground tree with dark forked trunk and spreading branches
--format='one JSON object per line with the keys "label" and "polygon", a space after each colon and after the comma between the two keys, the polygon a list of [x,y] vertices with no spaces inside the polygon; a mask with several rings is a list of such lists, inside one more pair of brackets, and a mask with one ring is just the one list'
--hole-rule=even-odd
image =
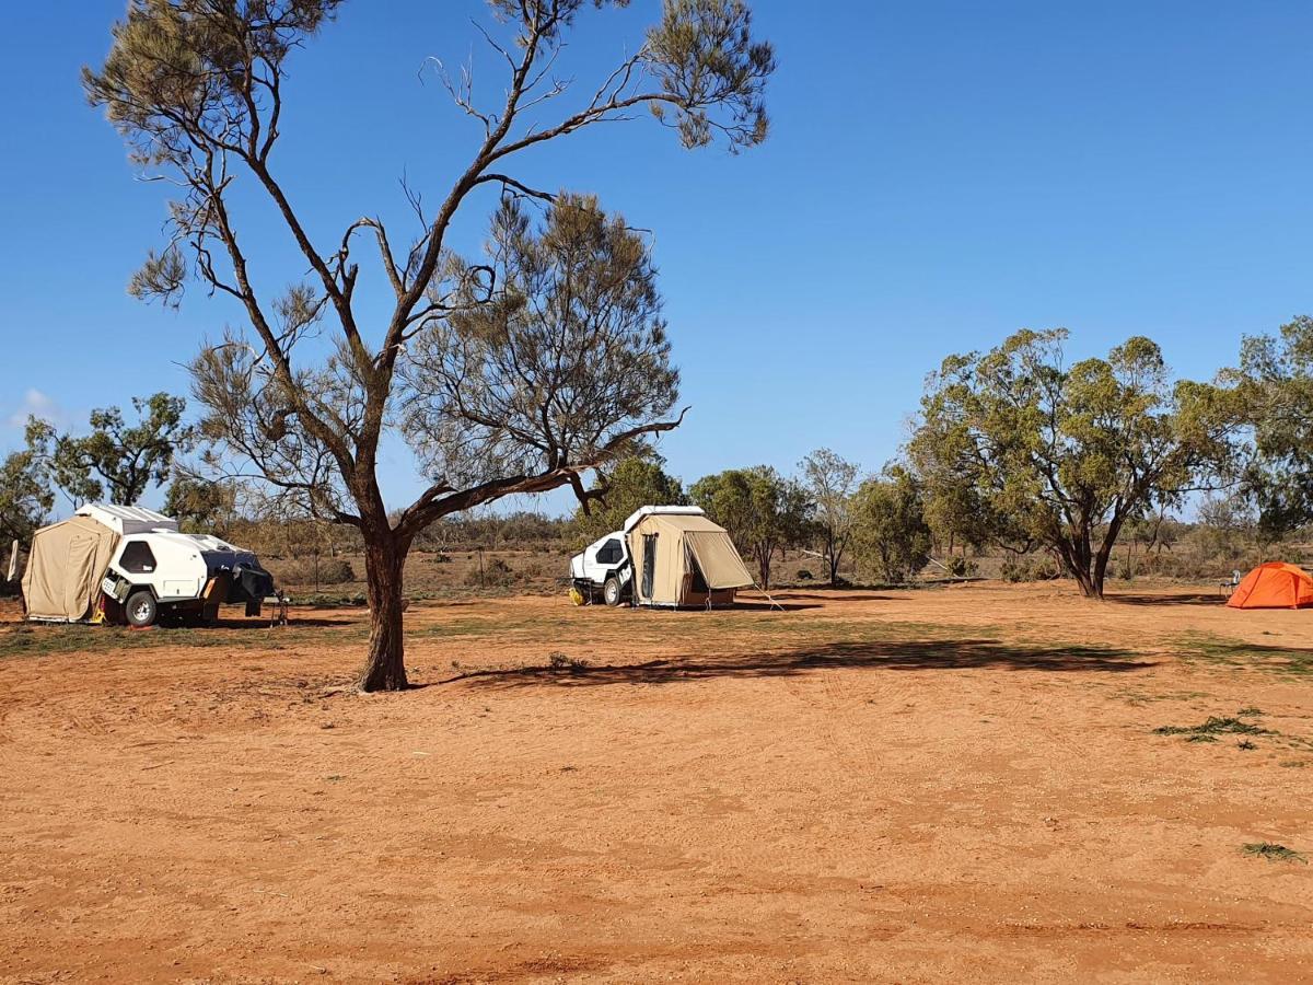
{"label": "large sparse foreground tree with dark forked trunk and spreading branches", "polygon": [[[180,189],[169,242],[147,257],[133,293],[177,303],[196,278],[235,302],[246,322],[194,364],[207,436],[230,471],[360,531],[366,691],[407,686],[402,570],[420,531],[507,495],[569,485],[586,496],[582,474],[678,423],[667,416],[675,376],[641,236],[587,200],[530,186],[512,173],[516,163],[645,109],[687,147],[721,138],[741,150],[767,134],[762,97],[775,56],[754,38],[744,0],[666,0],[646,37],[572,104],[570,80],[553,64],[578,18],[624,0],[488,5],[492,20],[479,33],[504,64],[504,88],[490,104],[473,72],[457,81],[437,63],[477,134],[436,198],[407,189],[418,218],[410,235],[366,214],[344,217],[339,236],[318,242],[278,165],[281,134],[305,118],[284,113],[294,91],[289,59],[332,21],[340,0],[131,0],[104,66],[84,72],[91,101],[134,159]],[[238,188],[247,189],[240,213]],[[239,235],[252,190],[289,234],[294,259],[284,269],[309,271],[276,298],[263,285],[280,278],[277,269],[256,271]],[[495,256],[466,261],[448,234],[481,193],[553,209],[541,223],[499,209]],[[381,318],[356,303],[361,238],[389,298]],[[592,281],[600,272],[612,280]],[[599,306],[586,311],[578,298]],[[590,365],[584,352],[601,359]],[[377,462],[398,420],[428,486],[390,510]]]}

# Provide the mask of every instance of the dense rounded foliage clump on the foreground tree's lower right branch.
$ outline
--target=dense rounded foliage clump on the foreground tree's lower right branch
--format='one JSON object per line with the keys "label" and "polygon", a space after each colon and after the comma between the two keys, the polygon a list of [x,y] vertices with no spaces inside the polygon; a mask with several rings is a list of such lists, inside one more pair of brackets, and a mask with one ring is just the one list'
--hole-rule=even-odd
{"label": "dense rounded foliage clump on the foreground tree's lower right branch", "polygon": [[487,253],[496,296],[453,260],[454,310],[410,343],[404,432],[428,475],[478,487],[630,449],[679,389],[642,236],[592,197],[562,193],[541,229],[504,198]]}

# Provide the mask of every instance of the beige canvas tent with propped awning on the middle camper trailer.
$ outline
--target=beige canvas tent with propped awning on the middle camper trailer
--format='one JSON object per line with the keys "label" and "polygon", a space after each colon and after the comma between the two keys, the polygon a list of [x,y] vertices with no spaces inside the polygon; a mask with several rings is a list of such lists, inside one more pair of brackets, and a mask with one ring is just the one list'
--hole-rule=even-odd
{"label": "beige canvas tent with propped awning on the middle camper trailer", "polygon": [[625,524],[638,605],[729,605],[752,575],[723,527],[701,511],[639,510]]}

